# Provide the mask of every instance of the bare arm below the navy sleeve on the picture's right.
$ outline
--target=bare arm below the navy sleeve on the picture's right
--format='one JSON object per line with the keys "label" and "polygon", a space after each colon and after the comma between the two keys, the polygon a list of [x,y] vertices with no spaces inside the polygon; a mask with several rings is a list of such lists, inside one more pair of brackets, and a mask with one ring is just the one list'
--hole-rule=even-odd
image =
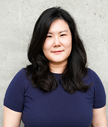
{"label": "bare arm below the navy sleeve on the picture's right", "polygon": [[93,109],[93,127],[107,127],[107,119],[105,106],[102,108]]}

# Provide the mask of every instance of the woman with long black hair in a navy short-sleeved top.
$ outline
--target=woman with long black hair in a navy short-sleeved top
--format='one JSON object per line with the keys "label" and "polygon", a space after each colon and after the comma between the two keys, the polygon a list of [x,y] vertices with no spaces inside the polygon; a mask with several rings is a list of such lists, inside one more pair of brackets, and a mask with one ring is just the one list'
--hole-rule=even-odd
{"label": "woman with long black hair in a navy short-sleeved top", "polygon": [[31,62],[10,83],[4,99],[4,127],[107,127],[104,87],[86,67],[86,52],[73,18],[45,10],[28,50]]}

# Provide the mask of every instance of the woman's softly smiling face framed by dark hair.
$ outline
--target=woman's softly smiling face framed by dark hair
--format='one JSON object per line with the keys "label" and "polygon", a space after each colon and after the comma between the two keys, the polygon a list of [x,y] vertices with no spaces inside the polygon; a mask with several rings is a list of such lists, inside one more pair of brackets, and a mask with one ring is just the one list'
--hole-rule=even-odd
{"label": "woman's softly smiling face framed by dark hair", "polygon": [[50,26],[43,53],[49,64],[67,64],[67,58],[72,50],[72,36],[66,21],[56,19]]}

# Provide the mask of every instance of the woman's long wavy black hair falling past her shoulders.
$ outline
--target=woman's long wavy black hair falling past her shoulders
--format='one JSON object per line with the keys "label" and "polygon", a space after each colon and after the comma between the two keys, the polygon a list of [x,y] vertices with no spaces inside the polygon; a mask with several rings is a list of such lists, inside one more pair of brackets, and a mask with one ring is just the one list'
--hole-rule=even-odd
{"label": "woman's long wavy black hair falling past her shoulders", "polygon": [[86,85],[82,81],[87,75],[86,51],[78,35],[74,19],[60,7],[45,10],[35,24],[28,49],[28,59],[31,64],[26,67],[27,77],[34,87],[43,91],[52,91],[57,88],[58,83],[53,73],[50,72],[49,61],[42,51],[49,28],[56,19],[66,21],[72,35],[72,51],[59,81],[68,93],[74,93],[76,90],[87,91],[90,85]]}

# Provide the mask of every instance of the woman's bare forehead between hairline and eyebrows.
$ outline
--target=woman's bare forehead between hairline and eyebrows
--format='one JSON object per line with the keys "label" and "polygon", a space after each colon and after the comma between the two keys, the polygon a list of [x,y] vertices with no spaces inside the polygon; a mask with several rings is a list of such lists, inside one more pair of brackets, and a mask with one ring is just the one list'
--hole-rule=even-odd
{"label": "woman's bare forehead between hairline and eyebrows", "polygon": [[50,28],[49,28],[49,33],[52,32],[60,32],[60,31],[70,31],[69,26],[67,22],[63,19],[56,19],[52,22]]}

